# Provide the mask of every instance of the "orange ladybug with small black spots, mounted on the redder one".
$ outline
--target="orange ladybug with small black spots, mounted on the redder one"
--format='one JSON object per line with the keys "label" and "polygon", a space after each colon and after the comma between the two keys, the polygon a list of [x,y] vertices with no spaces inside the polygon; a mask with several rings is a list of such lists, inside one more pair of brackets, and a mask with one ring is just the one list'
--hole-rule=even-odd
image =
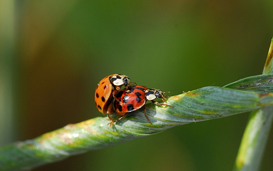
{"label": "orange ladybug with small black spots, mounted on the redder one", "polygon": [[[118,90],[128,92],[128,87],[130,87],[131,80],[126,75],[122,74],[112,74],[104,77],[97,84],[95,91],[95,103],[99,112],[107,114],[109,119],[114,121],[109,114],[114,113],[113,100],[116,99],[118,103],[121,103],[117,98],[116,94]],[[121,89],[121,86],[125,86],[125,90]],[[121,103],[121,105],[123,105]]]}

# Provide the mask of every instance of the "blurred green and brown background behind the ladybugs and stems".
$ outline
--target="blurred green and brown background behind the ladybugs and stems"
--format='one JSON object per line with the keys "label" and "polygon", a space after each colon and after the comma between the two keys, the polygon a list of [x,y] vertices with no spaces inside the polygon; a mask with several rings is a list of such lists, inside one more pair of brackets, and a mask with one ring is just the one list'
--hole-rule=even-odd
{"label": "blurred green and brown background behind the ladybugs and stems", "polygon": [[[261,74],[272,36],[272,0],[0,0],[0,145],[103,116],[94,91],[113,73],[170,96]],[[248,115],[34,171],[231,171]]]}

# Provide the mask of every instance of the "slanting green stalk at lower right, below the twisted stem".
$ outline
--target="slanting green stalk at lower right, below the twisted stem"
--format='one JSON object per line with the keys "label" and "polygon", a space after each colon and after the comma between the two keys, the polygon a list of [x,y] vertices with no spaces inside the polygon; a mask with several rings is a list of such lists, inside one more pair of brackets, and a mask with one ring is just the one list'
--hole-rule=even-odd
{"label": "slanting green stalk at lower right, below the twisted stem", "polygon": [[249,116],[235,163],[235,171],[259,171],[273,119],[273,106]]}

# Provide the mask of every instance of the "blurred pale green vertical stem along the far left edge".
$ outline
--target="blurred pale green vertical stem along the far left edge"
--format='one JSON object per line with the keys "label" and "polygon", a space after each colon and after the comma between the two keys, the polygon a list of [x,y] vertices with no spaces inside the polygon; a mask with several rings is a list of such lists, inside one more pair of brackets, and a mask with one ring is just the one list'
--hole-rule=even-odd
{"label": "blurred pale green vertical stem along the far left edge", "polygon": [[14,0],[0,0],[0,144],[11,142],[16,137],[14,118],[18,72],[14,4]]}

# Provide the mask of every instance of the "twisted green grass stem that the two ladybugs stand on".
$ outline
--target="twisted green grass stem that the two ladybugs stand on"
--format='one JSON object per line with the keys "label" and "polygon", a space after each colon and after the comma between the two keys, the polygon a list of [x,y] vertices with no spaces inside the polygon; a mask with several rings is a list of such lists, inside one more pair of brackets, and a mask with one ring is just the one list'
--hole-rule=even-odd
{"label": "twisted green grass stem that the two ladybugs stand on", "polygon": [[0,170],[31,169],[89,150],[159,133],[174,126],[270,106],[273,104],[273,94],[204,87],[173,96],[166,103],[174,107],[147,104],[147,114],[152,124],[140,109],[111,128],[107,126],[107,117],[96,117],[69,124],[34,139],[3,146],[0,148]]}

